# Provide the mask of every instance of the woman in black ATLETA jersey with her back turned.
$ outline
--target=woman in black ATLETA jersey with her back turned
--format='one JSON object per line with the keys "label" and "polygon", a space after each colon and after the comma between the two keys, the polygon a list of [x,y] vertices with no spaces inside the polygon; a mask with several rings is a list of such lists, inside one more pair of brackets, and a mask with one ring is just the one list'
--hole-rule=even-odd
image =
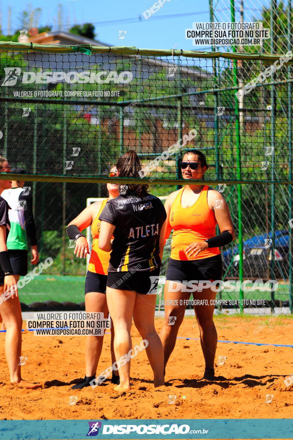
{"label": "woman in black ATLETA jersey with her back turned", "polygon": [[[119,177],[138,177],[141,164],[134,151],[117,163]],[[163,254],[166,212],[147,185],[119,185],[120,195],[109,200],[99,218],[99,247],[112,251],[107,278],[107,303],[114,325],[114,351],[119,370],[118,392],[130,389],[130,358],[146,348],[155,387],[164,385],[163,346],[154,325],[156,295]],[[111,243],[111,237],[114,236]],[[143,341],[132,350],[134,324]]]}

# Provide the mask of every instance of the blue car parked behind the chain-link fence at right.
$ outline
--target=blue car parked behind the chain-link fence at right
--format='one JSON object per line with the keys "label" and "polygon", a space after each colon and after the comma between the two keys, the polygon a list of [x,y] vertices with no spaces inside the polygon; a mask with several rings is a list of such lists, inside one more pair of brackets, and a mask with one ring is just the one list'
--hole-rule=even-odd
{"label": "blue car parked behind the chain-link fence at right", "polygon": [[[243,242],[243,274],[245,278],[270,279],[272,234],[255,235]],[[225,277],[239,276],[239,246],[223,252]],[[225,274],[226,273],[226,274]],[[289,231],[275,231],[275,278],[289,278]]]}

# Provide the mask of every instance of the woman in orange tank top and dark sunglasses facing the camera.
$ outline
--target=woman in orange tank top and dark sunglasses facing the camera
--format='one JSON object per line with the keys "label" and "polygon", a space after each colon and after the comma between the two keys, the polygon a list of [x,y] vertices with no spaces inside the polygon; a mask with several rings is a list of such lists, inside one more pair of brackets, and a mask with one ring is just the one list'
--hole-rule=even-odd
{"label": "woman in orange tank top and dark sunglasses facing the camera", "polygon": [[[193,150],[184,154],[181,162],[184,179],[203,180],[207,168],[205,155],[201,151]],[[216,298],[214,281],[222,277],[219,246],[235,239],[229,207],[220,192],[208,185],[192,183],[172,192],[165,208],[165,239],[174,229],[164,291],[165,324],[160,333],[165,366],[175,347],[186,303],[193,292],[194,311],[205,359],[204,378],[213,379],[218,336],[213,321],[215,307],[212,300]],[[217,224],[221,233],[216,236]]]}

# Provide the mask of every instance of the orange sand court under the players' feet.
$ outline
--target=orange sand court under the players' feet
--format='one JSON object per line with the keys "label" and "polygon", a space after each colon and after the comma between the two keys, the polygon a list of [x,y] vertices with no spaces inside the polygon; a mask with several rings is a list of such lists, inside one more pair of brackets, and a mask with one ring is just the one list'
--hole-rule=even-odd
{"label": "orange sand court under the players' feet", "polygon": [[[260,332],[254,329],[266,318],[216,316],[220,340],[293,345],[291,317],[278,317]],[[156,318],[160,330],[163,318]],[[133,326],[133,344],[141,337]],[[198,338],[194,317],[186,316],[179,336]],[[178,339],[167,365],[163,391],[155,391],[145,351],[132,360],[132,390],[113,392],[109,380],[82,390],[70,384],[84,375],[84,336],[33,336],[23,334],[23,377],[41,381],[41,389],[26,391],[12,386],[4,360],[4,335],[0,334],[0,419],[113,419],[113,418],[291,418],[293,385],[284,379],[293,374],[293,348],[268,345],[218,343],[217,381],[202,380],[203,356],[199,340]],[[110,365],[110,336],[105,335],[98,372]],[[267,394],[270,394],[268,396]],[[272,396],[273,394],[273,396]],[[70,399],[77,401],[69,404]],[[266,402],[271,400],[271,403]]]}

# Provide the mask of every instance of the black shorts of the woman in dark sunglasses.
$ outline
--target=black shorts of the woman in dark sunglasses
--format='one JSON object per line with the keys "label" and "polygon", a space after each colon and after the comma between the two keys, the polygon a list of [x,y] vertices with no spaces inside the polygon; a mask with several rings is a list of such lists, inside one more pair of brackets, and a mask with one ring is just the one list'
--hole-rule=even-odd
{"label": "black shorts of the woman in dark sunglasses", "polygon": [[221,254],[192,261],[170,258],[166,273],[169,281],[215,281],[222,279],[223,264]]}

